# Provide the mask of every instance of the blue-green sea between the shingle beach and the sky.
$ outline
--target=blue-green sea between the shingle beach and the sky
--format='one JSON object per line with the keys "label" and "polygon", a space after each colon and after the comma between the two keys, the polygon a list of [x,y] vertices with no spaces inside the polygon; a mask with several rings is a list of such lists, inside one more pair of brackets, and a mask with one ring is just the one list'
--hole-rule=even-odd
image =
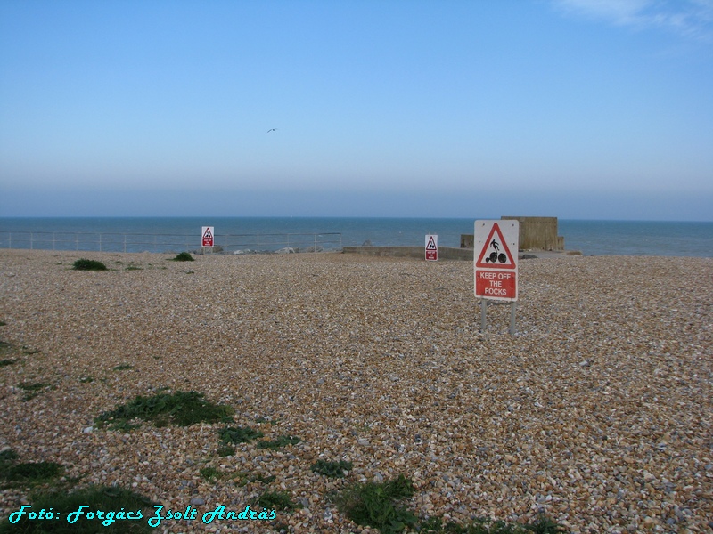
{"label": "blue-green sea between the shingle beach and the sky", "polygon": [[[156,247],[165,242],[166,250],[171,250],[178,244],[170,245],[171,236],[180,236],[184,239],[180,244],[187,247],[194,243],[200,248],[203,226],[214,227],[217,245],[227,239],[233,248],[244,243],[250,249],[256,239],[266,250],[307,249],[314,239],[324,250],[365,244],[423,246],[426,234],[438,235],[440,247],[460,247],[461,235],[473,233],[474,222],[474,218],[416,217],[0,217],[0,248],[92,250],[94,241],[88,236],[100,234],[106,250],[119,235],[143,236],[135,245],[128,238],[128,247],[124,238],[127,252],[142,252],[152,239]],[[561,219],[558,235],[564,238],[566,250],[583,255],[713,257],[713,222]],[[79,236],[88,239],[81,246]]]}

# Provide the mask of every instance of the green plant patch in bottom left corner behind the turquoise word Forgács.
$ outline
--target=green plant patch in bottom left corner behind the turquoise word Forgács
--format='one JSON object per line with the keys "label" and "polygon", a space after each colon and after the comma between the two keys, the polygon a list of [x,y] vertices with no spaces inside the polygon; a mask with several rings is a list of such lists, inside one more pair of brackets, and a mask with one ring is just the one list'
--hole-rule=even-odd
{"label": "green plant patch in bottom left corner behind the turquoise word Forg\u00e1cs", "polygon": [[[19,521],[12,524],[9,517],[0,523],[1,534],[11,534],[22,532],[23,534],[45,534],[49,532],[61,534],[95,534],[96,532],[135,534],[140,532],[154,531],[143,519],[142,521],[132,521],[129,519],[119,519],[118,514],[112,514],[111,521],[107,523],[108,514],[103,521],[94,517],[87,519],[86,514],[77,514],[77,521],[69,523],[66,519],[70,514],[77,512],[80,506],[86,506],[82,510],[113,510],[124,511],[126,517],[128,512],[132,512],[132,517],[141,510],[143,517],[152,517],[155,512],[152,502],[139,494],[118,487],[89,486],[82,490],[72,492],[62,490],[47,490],[29,496],[31,511],[52,510],[54,517],[59,521],[37,521],[29,519],[29,511],[22,514]],[[111,524],[110,524],[111,523]],[[106,526],[105,526],[106,525]]]}

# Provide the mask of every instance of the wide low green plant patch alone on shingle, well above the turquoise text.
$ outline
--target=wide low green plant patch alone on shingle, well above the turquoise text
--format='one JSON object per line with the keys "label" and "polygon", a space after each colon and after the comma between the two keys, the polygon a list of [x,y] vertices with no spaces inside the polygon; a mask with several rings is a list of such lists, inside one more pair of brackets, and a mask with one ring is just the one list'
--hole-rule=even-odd
{"label": "wide low green plant patch alone on shingle, well above the turquoise text", "polygon": [[152,397],[137,396],[134,401],[119,408],[103,412],[94,421],[98,426],[109,425],[115,429],[135,427],[132,419],[152,421],[156,426],[168,424],[189,426],[195,423],[219,423],[232,419],[234,409],[213,404],[199,392],[158,393]]}

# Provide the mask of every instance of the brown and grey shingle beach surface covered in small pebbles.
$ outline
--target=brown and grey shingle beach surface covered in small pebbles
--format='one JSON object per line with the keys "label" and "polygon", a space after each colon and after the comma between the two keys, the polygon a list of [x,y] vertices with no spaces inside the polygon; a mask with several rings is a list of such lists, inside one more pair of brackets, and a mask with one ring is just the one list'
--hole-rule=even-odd
{"label": "brown and grey shingle beach surface covered in small pebbles", "polygon": [[[109,271],[72,270],[81,257]],[[422,518],[713,530],[713,260],[521,261],[511,336],[507,306],[488,307],[479,333],[469,262],[170,257],[0,251],[0,339],[26,347],[0,367],[0,449],[199,514],[286,491],[303,507],[275,525],[294,532],[369,531],[330,492],[399,473]],[[51,387],[23,401],[26,382]],[[301,441],[220,457],[225,424],[94,424],[137,395],[191,390],[232,406],[233,425]],[[327,478],[310,469],[318,459],[353,469]],[[205,467],[223,476],[207,481]],[[28,495],[2,490],[0,519]]]}

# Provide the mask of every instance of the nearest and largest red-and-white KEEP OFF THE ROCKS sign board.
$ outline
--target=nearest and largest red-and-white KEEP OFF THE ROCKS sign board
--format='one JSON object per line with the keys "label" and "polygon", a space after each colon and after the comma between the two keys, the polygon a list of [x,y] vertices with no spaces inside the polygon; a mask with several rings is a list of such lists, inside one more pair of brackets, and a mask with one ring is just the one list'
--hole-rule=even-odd
{"label": "nearest and largest red-and-white KEEP OFF THE ROCKS sign board", "polygon": [[475,295],[500,301],[518,299],[520,222],[476,221],[473,261]]}

